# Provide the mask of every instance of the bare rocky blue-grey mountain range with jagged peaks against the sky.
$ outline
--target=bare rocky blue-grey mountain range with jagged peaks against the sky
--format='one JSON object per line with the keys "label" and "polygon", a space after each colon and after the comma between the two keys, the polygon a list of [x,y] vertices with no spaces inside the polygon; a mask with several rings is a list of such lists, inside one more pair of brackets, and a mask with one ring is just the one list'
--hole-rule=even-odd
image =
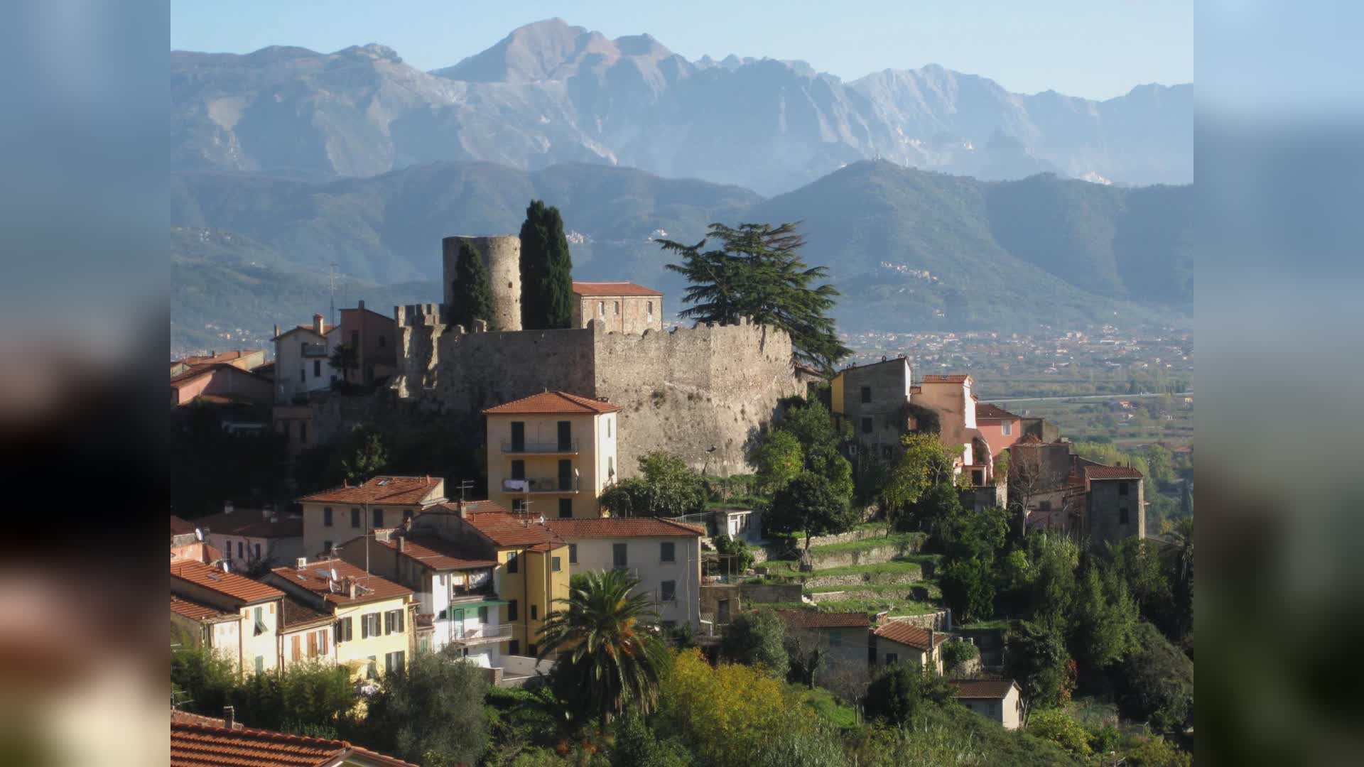
{"label": "bare rocky blue-grey mountain range with jagged peaks against the sky", "polygon": [[842,79],[550,19],[430,72],[383,45],[172,52],[172,167],[333,180],[432,161],[633,167],[762,195],[883,158],[978,179],[1192,180],[1192,86],[1094,101],[938,66]]}

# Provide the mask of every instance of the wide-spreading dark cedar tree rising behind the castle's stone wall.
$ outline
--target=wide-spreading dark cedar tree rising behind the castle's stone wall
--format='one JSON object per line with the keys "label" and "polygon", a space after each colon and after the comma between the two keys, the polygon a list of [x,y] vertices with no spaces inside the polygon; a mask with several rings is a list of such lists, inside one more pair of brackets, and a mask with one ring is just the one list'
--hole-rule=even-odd
{"label": "wide-spreading dark cedar tree rising behind the castle's stone wall", "polygon": [[[801,259],[805,235],[797,232],[798,225],[711,224],[707,239],[696,244],[657,242],[682,255],[682,263],[667,266],[689,283],[683,300],[692,306],[682,317],[724,323],[747,317],[780,328],[791,336],[797,359],[832,371],[850,353],[828,315],[839,292],[827,283],[813,287],[827,278],[828,267]],[[702,250],[712,240],[719,247]]]}

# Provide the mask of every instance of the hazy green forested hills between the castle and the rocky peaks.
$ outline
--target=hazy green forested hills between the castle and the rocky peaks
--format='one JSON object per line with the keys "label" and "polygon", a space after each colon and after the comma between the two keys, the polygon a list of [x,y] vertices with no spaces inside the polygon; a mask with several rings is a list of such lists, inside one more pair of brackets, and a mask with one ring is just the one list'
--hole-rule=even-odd
{"label": "hazy green forested hills between the castle and the rocky peaks", "polygon": [[516,232],[532,198],[562,210],[576,278],[659,288],[670,314],[683,284],[652,240],[696,242],[711,221],[802,221],[805,259],[843,292],[843,330],[1178,323],[1192,310],[1189,186],[982,182],[858,161],[764,198],[595,162],[430,162],[330,182],[175,175],[173,345],[213,344],[210,325],[262,337],[307,322],[326,307],[331,263],[344,306],[439,302],[441,237]]}

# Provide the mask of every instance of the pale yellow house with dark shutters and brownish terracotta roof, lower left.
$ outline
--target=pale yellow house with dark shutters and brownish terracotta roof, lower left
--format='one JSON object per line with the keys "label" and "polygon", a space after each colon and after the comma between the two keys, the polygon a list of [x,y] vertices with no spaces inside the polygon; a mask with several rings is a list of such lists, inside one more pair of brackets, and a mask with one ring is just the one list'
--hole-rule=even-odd
{"label": "pale yellow house with dark shutters and brownish terracotta roof, lower left", "polygon": [[366,573],[345,560],[300,560],[266,579],[310,607],[336,618],[333,652],[355,678],[375,678],[406,667],[413,648],[416,600],[412,590]]}

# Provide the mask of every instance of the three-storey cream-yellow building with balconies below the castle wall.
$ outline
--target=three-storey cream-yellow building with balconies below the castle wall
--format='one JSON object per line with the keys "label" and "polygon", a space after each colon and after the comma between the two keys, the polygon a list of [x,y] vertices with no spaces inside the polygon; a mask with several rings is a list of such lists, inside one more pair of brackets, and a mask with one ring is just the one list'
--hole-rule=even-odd
{"label": "three-storey cream-yellow building with balconies below the castle wall", "polygon": [[602,516],[597,495],[617,478],[619,409],[567,392],[544,392],[484,409],[488,500],[513,513]]}

